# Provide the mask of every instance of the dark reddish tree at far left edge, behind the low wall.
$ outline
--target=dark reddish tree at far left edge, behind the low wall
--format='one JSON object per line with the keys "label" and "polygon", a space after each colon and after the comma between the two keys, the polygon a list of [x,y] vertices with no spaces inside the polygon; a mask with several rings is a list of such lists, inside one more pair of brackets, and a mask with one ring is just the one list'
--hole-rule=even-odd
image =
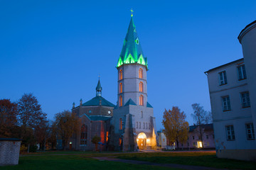
{"label": "dark reddish tree at far left edge, behind the low wall", "polygon": [[17,137],[17,104],[10,99],[0,100],[0,137]]}

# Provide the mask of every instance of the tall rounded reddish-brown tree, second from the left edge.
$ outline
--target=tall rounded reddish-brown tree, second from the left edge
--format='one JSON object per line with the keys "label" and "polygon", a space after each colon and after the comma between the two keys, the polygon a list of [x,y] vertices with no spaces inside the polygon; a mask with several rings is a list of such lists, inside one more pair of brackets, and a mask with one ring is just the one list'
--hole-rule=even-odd
{"label": "tall rounded reddish-brown tree, second from the left edge", "polygon": [[41,105],[33,94],[23,94],[18,100],[18,123],[21,126],[21,137],[28,145],[34,142],[35,137],[31,135],[31,129],[40,128],[46,120],[46,113],[43,113]]}

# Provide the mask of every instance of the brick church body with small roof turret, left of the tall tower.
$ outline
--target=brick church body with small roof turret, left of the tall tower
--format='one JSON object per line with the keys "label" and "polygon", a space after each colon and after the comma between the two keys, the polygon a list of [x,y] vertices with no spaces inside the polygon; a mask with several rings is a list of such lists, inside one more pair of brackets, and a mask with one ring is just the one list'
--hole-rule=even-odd
{"label": "brick church body with small roof turret, left of the tall tower", "polygon": [[73,104],[72,112],[81,119],[82,126],[77,135],[73,135],[69,142],[69,149],[93,150],[95,144],[91,142],[95,135],[100,137],[102,150],[107,149],[108,136],[110,132],[110,118],[113,115],[114,104],[102,97],[102,86],[100,80],[96,87],[96,97],[90,101],[82,103],[75,107]]}

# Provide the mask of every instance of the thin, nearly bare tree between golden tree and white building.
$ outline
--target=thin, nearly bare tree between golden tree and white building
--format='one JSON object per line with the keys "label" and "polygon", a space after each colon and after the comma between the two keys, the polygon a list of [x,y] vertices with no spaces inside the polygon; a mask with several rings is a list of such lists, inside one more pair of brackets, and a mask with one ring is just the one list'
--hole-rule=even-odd
{"label": "thin, nearly bare tree between golden tree and white building", "polygon": [[203,106],[200,106],[199,103],[193,103],[192,104],[193,113],[191,116],[196,121],[196,125],[198,125],[198,133],[200,135],[200,140],[202,142],[203,147],[203,125],[209,123],[209,121],[212,121],[212,115],[211,112],[207,112],[203,109]]}

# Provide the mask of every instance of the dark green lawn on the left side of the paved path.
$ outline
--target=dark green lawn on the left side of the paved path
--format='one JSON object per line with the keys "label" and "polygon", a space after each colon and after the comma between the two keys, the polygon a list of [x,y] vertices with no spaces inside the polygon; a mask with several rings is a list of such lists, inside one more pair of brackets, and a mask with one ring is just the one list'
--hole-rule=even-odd
{"label": "dark green lawn on the left side of the paved path", "polygon": [[[71,152],[72,153],[72,152]],[[168,169],[159,166],[125,164],[121,162],[98,161],[90,157],[101,154],[69,154],[69,155],[29,155],[20,157],[19,164],[15,166],[0,166],[0,169]]]}

